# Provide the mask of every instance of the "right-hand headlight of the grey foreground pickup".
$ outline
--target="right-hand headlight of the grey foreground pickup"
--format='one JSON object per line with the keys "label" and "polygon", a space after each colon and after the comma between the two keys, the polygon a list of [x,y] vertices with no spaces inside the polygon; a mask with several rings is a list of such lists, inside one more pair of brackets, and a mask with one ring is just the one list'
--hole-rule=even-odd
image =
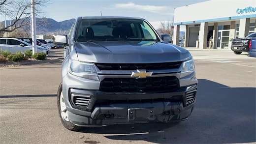
{"label": "right-hand headlight of the grey foreground pickup", "polygon": [[194,59],[182,63],[181,77],[186,77],[195,71]]}

